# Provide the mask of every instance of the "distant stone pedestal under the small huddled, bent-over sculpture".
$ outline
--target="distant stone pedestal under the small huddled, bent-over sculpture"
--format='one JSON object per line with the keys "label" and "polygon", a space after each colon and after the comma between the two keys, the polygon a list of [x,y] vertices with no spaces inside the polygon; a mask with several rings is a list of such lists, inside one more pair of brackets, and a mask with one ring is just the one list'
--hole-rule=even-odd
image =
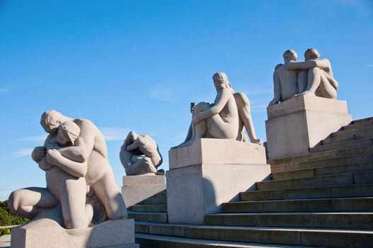
{"label": "distant stone pedestal under the small huddled, bent-over sculpture", "polygon": [[123,176],[122,196],[127,208],[166,189],[166,176]]}

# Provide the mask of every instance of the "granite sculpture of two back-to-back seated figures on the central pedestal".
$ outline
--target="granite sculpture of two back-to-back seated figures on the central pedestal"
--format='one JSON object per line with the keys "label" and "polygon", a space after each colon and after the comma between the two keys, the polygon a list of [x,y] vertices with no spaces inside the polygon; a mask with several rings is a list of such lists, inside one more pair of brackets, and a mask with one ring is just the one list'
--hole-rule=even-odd
{"label": "granite sculpture of two back-to-back seated figures on the central pedestal", "polygon": [[231,88],[224,72],[215,73],[212,80],[217,90],[214,103],[190,103],[192,122],[185,141],[177,147],[187,147],[200,138],[248,141],[244,128],[251,142],[260,143],[253,128],[247,96]]}

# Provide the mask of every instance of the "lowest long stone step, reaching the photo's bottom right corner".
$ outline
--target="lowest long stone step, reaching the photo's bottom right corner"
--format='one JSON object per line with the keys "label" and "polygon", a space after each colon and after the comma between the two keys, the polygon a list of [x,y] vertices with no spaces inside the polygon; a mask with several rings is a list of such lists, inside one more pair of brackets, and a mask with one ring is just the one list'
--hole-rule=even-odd
{"label": "lowest long stone step, reaching the photo's bottom right corner", "polygon": [[372,247],[372,230],[291,227],[185,227],[185,237],[235,242],[292,244],[318,247]]}

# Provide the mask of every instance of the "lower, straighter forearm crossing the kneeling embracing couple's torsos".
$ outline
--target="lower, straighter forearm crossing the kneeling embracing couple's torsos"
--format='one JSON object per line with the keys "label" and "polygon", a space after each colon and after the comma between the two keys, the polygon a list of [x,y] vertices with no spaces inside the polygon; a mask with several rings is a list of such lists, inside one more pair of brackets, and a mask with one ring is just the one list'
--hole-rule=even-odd
{"label": "lower, straighter forearm crossing the kneeling embracing couple's torsos", "polygon": [[79,163],[72,161],[54,149],[47,151],[47,162],[63,169],[71,176],[84,177],[87,174],[87,162]]}

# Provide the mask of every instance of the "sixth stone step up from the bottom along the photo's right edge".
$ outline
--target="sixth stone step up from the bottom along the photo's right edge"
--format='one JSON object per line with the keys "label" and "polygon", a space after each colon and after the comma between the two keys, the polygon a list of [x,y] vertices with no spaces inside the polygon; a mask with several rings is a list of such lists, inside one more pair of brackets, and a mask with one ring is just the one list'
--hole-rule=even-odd
{"label": "sixth stone step up from the bottom along the photo's right edge", "polygon": [[362,171],[373,171],[373,162],[360,164],[341,164],[329,167],[313,167],[309,169],[296,169],[294,171],[276,172],[272,173],[272,179],[300,179],[311,176],[323,176],[330,174],[341,174]]}

